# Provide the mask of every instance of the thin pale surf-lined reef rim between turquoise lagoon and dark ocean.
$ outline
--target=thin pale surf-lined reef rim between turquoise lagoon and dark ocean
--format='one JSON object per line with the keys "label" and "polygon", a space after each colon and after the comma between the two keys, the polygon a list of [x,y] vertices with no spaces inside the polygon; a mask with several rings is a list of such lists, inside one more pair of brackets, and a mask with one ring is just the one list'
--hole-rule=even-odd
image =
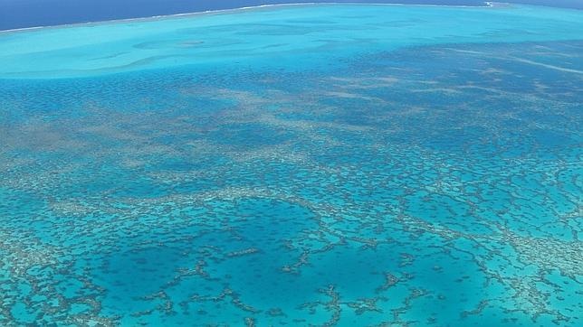
{"label": "thin pale surf-lined reef rim between turquoise lagoon and dark ocean", "polygon": [[248,11],[248,10],[256,10],[256,9],[263,9],[269,7],[278,7],[278,6],[311,6],[311,5],[398,5],[398,6],[428,6],[428,7],[454,7],[454,8],[488,8],[488,7],[496,7],[498,5],[510,5],[506,3],[496,3],[486,1],[483,2],[483,5],[430,5],[430,4],[382,4],[382,3],[339,3],[339,2],[330,2],[330,3],[289,3],[289,4],[271,4],[271,5],[252,5],[252,6],[244,6],[238,8],[230,8],[230,9],[215,9],[215,10],[205,10],[200,12],[190,12],[190,13],[179,13],[179,14],[161,14],[155,16],[147,16],[147,17],[135,17],[135,18],[121,18],[121,19],[111,19],[111,20],[104,20],[104,21],[95,21],[95,22],[85,22],[85,23],[62,23],[56,25],[44,25],[44,26],[33,26],[33,27],[23,27],[23,28],[14,28],[9,30],[0,30],[0,35],[7,34],[7,33],[20,33],[20,32],[31,32],[35,30],[43,30],[43,29],[57,29],[57,28],[68,28],[68,27],[75,27],[75,26],[93,26],[93,25],[100,25],[105,23],[126,23],[126,22],[148,22],[148,21],[155,21],[158,19],[166,19],[172,17],[187,17],[187,16],[196,16],[196,15],[204,15],[204,14],[225,14],[225,13],[232,13],[232,12],[239,12],[239,11]]}

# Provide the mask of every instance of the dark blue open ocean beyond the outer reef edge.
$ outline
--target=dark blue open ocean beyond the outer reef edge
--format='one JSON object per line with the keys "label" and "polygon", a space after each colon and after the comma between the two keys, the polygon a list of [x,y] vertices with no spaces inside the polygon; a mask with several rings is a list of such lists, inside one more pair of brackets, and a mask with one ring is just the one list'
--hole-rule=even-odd
{"label": "dark blue open ocean beyond the outer reef edge", "polygon": [[[0,0],[0,30],[148,17],[160,14],[192,13],[252,5],[308,2],[484,4],[484,1],[481,0]],[[503,2],[583,9],[583,1],[580,0],[507,0]]]}

